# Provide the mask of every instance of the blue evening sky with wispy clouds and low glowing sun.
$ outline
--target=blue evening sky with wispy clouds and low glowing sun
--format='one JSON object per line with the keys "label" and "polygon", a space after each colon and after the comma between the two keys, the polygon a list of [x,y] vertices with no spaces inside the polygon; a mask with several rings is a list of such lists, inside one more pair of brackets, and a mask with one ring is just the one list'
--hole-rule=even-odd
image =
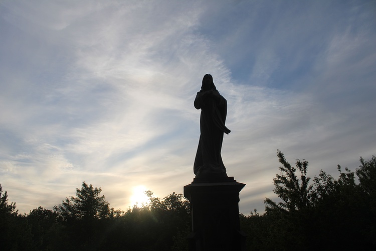
{"label": "blue evening sky with wispy clouds and low glowing sun", "polygon": [[277,149],[338,178],[376,154],[376,1],[2,1],[0,184],[20,213],[83,181],[115,209],[193,181],[205,74],[222,158],[264,211]]}

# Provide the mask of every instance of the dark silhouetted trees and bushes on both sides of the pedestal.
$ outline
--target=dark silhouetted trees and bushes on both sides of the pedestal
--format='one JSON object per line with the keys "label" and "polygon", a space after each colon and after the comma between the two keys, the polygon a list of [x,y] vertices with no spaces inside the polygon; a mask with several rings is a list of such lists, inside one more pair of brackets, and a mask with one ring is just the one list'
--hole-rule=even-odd
{"label": "dark silhouetted trees and bushes on both sides of the pedestal", "polygon": [[[312,180],[308,162],[282,166],[273,178],[280,202],[265,199],[265,213],[240,215],[249,250],[372,250],[376,247],[376,157],[360,158],[355,172],[338,165],[339,178],[324,171]],[[355,178],[355,175],[357,179]],[[189,201],[172,193],[149,203],[115,210],[85,182],[76,197],[53,210],[19,214],[0,185],[2,250],[187,250]]]}

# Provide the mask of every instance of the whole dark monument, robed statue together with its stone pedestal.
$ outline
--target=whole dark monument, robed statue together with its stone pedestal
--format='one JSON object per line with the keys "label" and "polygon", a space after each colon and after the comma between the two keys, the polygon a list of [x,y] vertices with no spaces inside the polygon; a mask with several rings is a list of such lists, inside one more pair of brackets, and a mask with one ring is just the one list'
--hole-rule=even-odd
{"label": "whole dark monument, robed statue together with its stone pedestal", "polygon": [[204,76],[194,104],[201,109],[201,135],[194,163],[196,178],[184,186],[192,213],[189,250],[245,250],[238,205],[245,184],[228,177],[222,161],[223,135],[230,133],[225,126],[227,101],[216,89],[212,75]]}

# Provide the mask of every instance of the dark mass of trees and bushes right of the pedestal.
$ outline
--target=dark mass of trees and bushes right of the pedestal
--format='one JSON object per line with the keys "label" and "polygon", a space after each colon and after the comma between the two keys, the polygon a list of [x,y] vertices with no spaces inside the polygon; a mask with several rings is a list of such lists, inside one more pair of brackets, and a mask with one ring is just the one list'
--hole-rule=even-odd
{"label": "dark mass of trees and bushes right of the pedestal", "polygon": [[[338,179],[320,171],[306,176],[308,162],[292,167],[277,151],[280,174],[273,179],[281,202],[265,200],[263,215],[241,215],[250,250],[369,250],[376,247],[376,158],[365,161],[355,174],[338,165]],[[300,173],[300,179],[296,173]]]}

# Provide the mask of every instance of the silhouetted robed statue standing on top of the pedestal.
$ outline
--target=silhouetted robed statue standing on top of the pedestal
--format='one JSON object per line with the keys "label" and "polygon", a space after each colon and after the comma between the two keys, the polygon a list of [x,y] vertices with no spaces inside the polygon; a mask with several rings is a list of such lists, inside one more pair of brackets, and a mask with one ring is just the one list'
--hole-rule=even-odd
{"label": "silhouetted robed statue standing on top of the pedestal", "polygon": [[217,91],[210,74],[203,78],[203,85],[195,99],[195,107],[201,109],[201,135],[194,164],[196,178],[227,177],[221,157],[223,133],[230,133],[225,126],[227,101]]}

